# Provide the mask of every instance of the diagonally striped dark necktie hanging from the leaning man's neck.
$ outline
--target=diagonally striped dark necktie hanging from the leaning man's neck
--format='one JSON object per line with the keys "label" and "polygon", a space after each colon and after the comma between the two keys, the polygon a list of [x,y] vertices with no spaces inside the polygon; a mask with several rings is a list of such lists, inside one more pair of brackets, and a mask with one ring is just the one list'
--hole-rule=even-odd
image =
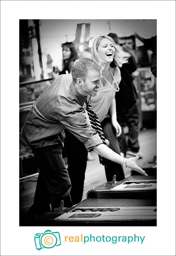
{"label": "diagonally striped dark necktie hanging from the leaning man's neck", "polygon": [[[86,103],[86,105],[87,105],[87,106],[86,106],[86,110],[87,110],[87,114],[88,114],[88,116],[89,116],[90,124],[91,124],[92,128],[93,128],[93,129],[98,133],[98,135],[100,136],[100,138],[101,138],[103,144],[106,145],[106,141],[105,141],[105,138],[104,138],[103,130],[102,130],[102,128],[101,128],[101,125],[100,125],[100,121],[99,121],[99,119],[98,119],[98,116],[97,116],[97,114],[94,112],[94,110],[92,109],[92,107],[91,107],[91,105],[90,105],[89,99],[87,99],[87,100],[85,101],[85,103]],[[100,155],[98,155],[98,157],[99,157],[100,164],[105,166],[105,161],[104,161],[105,159],[104,159],[102,156],[100,156]]]}

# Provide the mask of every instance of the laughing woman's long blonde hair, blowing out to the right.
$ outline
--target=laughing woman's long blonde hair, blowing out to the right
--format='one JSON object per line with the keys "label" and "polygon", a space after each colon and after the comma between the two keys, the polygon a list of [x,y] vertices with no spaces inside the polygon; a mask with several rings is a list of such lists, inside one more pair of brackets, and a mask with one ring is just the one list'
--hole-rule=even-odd
{"label": "laughing woman's long blonde hair, blowing out to the right", "polygon": [[[94,42],[93,42],[93,45],[92,45],[92,48],[91,48],[91,52],[92,52],[92,59],[94,59],[95,61],[97,61],[99,63],[99,65],[102,67],[102,70],[104,69],[104,66],[105,66],[105,61],[103,61],[99,55],[98,55],[98,52],[97,52],[97,49],[98,49],[98,46],[100,45],[100,42],[103,38],[107,38],[109,39],[114,48],[115,48],[115,53],[114,53],[114,57],[113,57],[113,62],[114,62],[114,65],[115,66],[118,66],[118,67],[122,67],[122,65],[124,63],[127,63],[128,62],[128,59],[129,57],[131,56],[130,53],[128,52],[125,52],[123,51],[122,47],[117,45],[114,40],[109,37],[109,36],[100,36],[100,37],[97,37]],[[112,63],[112,62],[111,62]]]}

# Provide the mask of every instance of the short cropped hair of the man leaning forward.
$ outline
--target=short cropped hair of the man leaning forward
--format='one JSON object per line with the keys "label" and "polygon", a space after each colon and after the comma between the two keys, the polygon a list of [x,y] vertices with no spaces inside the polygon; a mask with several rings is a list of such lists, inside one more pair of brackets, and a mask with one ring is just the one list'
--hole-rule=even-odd
{"label": "short cropped hair of the man leaning forward", "polygon": [[95,60],[90,58],[81,58],[75,60],[71,69],[73,82],[76,83],[77,78],[81,78],[85,82],[87,74],[90,70],[100,71],[101,66]]}

